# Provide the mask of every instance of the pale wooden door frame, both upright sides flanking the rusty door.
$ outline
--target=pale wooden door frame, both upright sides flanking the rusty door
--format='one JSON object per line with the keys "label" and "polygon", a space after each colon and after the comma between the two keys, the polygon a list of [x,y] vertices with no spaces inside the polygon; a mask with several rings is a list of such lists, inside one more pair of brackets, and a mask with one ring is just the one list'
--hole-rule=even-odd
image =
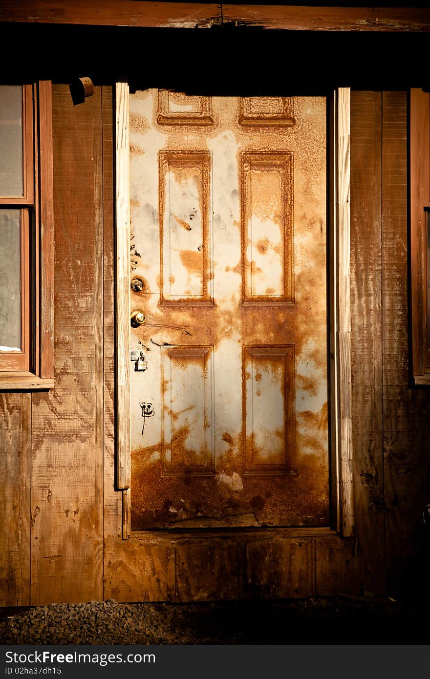
{"label": "pale wooden door frame, both upright sides flanking the rusty door", "polygon": [[[350,88],[336,88],[329,105],[329,450],[332,525],[353,535],[350,297]],[[129,87],[115,83],[115,483],[122,492],[122,538],[130,534],[130,171]],[[308,529],[311,530],[312,529]],[[306,531],[308,532],[308,531]],[[318,530],[321,532],[321,530]],[[140,534],[141,532],[139,532]]]}

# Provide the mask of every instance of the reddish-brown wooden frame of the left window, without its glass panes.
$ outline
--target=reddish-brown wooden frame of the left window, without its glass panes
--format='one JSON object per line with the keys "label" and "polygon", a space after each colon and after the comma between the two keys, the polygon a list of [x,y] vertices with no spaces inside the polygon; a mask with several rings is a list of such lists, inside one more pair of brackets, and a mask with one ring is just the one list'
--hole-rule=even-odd
{"label": "reddish-brown wooden frame of the left window, without its glass panes", "polygon": [[23,193],[0,196],[20,209],[21,347],[0,352],[0,390],[37,390],[53,379],[52,92],[22,84]]}

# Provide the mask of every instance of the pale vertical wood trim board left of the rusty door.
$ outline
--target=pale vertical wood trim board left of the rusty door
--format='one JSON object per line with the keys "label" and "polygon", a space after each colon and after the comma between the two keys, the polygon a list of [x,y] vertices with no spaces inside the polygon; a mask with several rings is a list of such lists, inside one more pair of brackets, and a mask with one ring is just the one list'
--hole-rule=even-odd
{"label": "pale vertical wood trim board left of the rusty door", "polygon": [[116,418],[118,490],[130,487],[130,172],[129,90],[115,85],[116,149]]}

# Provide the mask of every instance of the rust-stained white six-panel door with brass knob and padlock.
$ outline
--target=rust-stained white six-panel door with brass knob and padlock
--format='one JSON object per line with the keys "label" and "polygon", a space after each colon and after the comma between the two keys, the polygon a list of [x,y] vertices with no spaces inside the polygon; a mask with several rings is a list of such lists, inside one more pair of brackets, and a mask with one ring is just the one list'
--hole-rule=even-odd
{"label": "rust-stained white six-panel door with brass knob and padlock", "polygon": [[132,530],[329,522],[326,104],[130,96]]}

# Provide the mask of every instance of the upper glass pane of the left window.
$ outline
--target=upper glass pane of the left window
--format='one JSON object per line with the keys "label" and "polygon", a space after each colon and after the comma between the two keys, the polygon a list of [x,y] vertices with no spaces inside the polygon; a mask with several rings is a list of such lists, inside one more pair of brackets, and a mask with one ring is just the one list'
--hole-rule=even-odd
{"label": "upper glass pane of the left window", "polygon": [[0,196],[22,196],[22,87],[0,86]]}

